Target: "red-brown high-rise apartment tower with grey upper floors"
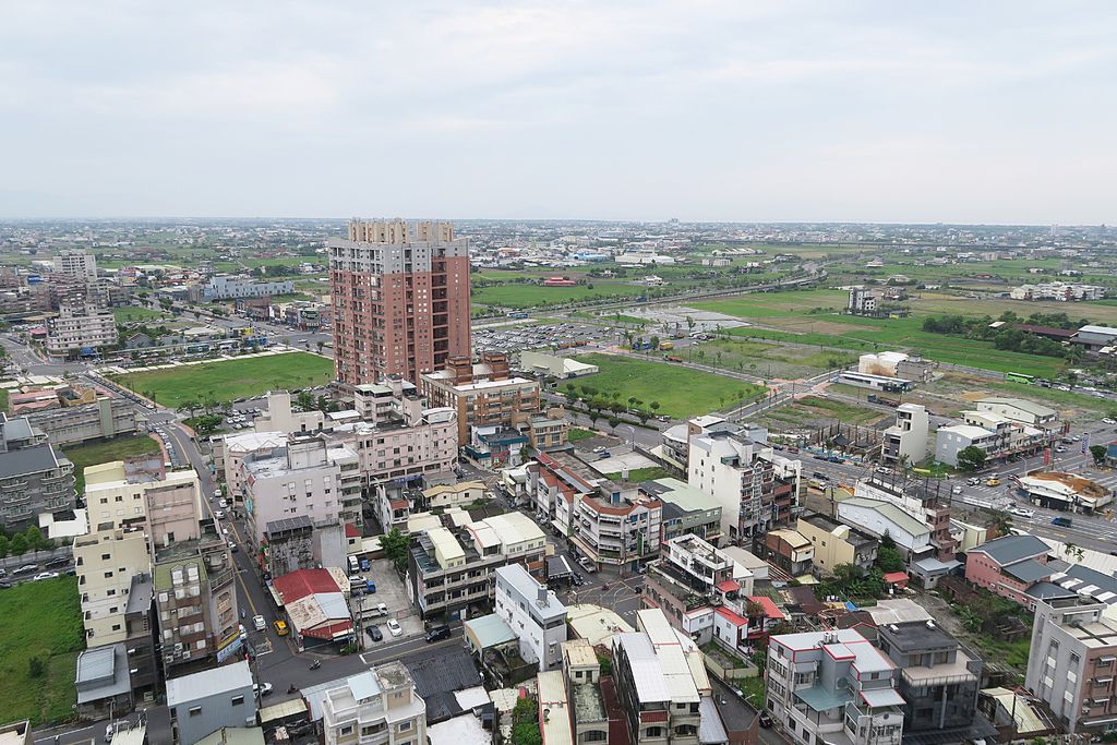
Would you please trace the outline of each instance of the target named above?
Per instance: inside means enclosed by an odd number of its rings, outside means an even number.
[[[469,247],[449,222],[352,220],[330,249],[334,364],[352,388],[468,355]]]

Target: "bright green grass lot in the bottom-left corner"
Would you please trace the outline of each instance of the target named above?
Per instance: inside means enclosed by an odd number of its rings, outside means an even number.
[[[85,647],[77,579],[25,582],[0,592],[0,701],[4,720],[74,716],[74,672]],[[31,658],[42,662],[32,675]]]

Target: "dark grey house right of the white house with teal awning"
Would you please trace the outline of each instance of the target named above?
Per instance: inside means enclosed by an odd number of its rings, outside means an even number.
[[[977,715],[982,660],[934,621],[887,623],[877,646],[899,670],[904,733],[926,733],[939,742],[976,742],[995,734]],[[956,739],[955,739],[956,738]]]

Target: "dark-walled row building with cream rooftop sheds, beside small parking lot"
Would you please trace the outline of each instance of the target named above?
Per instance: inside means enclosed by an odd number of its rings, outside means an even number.
[[[536,576],[544,570],[546,537],[522,513],[466,523],[457,534],[439,526],[414,535],[404,583],[423,618],[445,613],[455,619],[488,605],[499,566],[522,564]]]

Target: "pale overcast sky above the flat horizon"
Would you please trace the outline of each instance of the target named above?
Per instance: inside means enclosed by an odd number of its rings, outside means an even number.
[[[1117,3],[0,0],[0,218],[1117,222]]]

